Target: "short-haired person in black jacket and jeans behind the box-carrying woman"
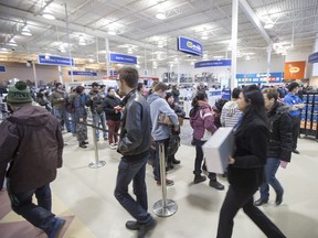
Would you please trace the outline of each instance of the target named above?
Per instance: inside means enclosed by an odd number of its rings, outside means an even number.
[[[284,190],[275,177],[279,167],[286,167],[290,162],[293,138],[292,138],[292,118],[288,113],[289,107],[277,101],[278,91],[275,88],[263,89],[265,108],[268,116],[269,141],[267,149],[267,160],[265,165],[266,181],[261,185],[261,198],[255,201],[256,206],[268,202],[269,186],[276,192],[275,204],[283,202]]]

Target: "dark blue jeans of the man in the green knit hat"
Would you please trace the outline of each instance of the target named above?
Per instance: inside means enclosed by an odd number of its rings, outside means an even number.
[[[7,186],[12,209],[33,226],[50,234],[56,219],[55,215],[51,213],[52,197],[50,184],[47,183],[42,187],[30,190],[24,193],[12,193],[10,180],[8,180]],[[32,203],[33,194],[35,194],[38,205]]]

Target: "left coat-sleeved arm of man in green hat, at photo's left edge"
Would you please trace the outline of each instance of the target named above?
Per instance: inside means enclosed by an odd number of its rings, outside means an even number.
[[[2,190],[8,163],[19,147],[19,133],[17,127],[8,120],[0,125],[0,190]]]

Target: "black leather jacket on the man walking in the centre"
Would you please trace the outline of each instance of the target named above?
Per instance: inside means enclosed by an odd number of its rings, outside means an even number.
[[[150,149],[150,108],[137,89],[131,90],[121,105],[125,109],[117,151],[130,160],[137,160],[140,156],[134,155],[148,153]]]

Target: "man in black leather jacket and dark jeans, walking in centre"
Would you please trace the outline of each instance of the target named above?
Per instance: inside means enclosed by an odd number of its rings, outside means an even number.
[[[138,230],[138,237],[145,237],[156,226],[148,210],[146,188],[146,163],[150,149],[150,108],[145,98],[137,93],[139,75],[134,67],[123,67],[118,72],[120,95],[126,95],[121,106],[124,117],[117,151],[123,154],[118,166],[115,197],[136,219],[128,220],[126,227]],[[128,193],[132,181],[135,201]]]

